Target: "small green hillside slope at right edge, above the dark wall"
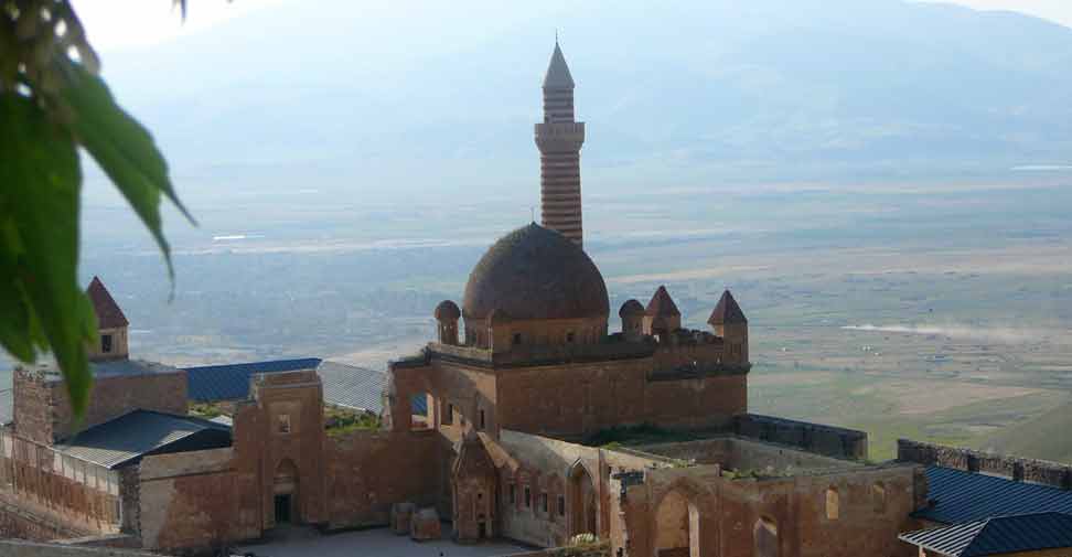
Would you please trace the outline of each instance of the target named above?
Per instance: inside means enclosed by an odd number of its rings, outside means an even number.
[[[1001,429],[976,443],[983,450],[1072,463],[1072,403]]]

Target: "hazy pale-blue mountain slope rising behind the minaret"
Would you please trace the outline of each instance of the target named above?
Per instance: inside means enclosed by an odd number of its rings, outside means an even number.
[[[588,194],[1072,159],[1072,30],[899,0],[290,2],[105,71],[186,191],[534,200],[556,28]]]

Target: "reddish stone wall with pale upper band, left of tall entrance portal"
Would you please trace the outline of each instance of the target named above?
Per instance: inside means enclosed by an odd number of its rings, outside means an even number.
[[[143,547],[211,548],[260,536],[256,478],[236,468],[233,449],[146,457],[138,469]]]

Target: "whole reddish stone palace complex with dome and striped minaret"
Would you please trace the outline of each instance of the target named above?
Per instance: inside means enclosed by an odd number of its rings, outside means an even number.
[[[683,328],[662,286],[612,322],[582,248],[573,86],[556,44],[536,127],[544,225],[495,242],[461,304],[430,312],[435,339],[388,365],[382,406],[340,395],[382,408],[382,428],[325,431],[319,360],[131,360],[128,322],[94,279],[90,407],[76,422],[54,366],[17,369],[0,531],[193,551],[285,523],[426,539],[443,519],[459,543],[591,534],[618,557],[915,554],[898,536],[944,525],[926,514],[942,474],[920,456],[934,451],[869,463],[864,432],[750,414],[749,323],[728,290],[706,330]],[[227,419],[191,417],[190,403]],[[944,501],[943,516],[979,517]]]

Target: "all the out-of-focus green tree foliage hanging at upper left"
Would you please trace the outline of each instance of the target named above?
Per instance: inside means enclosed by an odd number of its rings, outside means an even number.
[[[68,0],[0,0],[0,345],[25,363],[51,352],[79,416],[97,320],[77,277],[78,148],[152,234],[172,283],[161,196],[194,222],[152,136],[116,104],[98,68]]]

